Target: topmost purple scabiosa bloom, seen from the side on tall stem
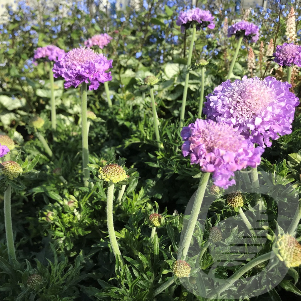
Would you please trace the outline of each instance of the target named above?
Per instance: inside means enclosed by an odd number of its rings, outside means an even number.
[[[187,11],[180,11],[176,24],[181,26],[181,31],[184,33],[185,29],[189,28],[193,23],[197,25],[197,30],[205,29],[206,27],[213,29],[215,24],[214,17],[210,11],[204,11],[200,8],[188,9]]]

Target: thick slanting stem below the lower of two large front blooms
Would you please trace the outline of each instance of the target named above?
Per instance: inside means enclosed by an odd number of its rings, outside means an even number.
[[[200,213],[209,176],[210,176],[210,172],[205,172],[202,174],[200,178],[200,184],[199,187],[197,188],[197,194],[195,195],[194,203],[191,209],[188,226],[185,231],[184,239],[182,241],[181,247],[178,250],[178,259],[181,259],[182,257],[183,260],[185,260],[186,255],[188,253],[189,245],[191,242],[195,224],[197,223],[197,218]]]

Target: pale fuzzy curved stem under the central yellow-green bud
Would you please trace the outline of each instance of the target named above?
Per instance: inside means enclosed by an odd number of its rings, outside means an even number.
[[[114,253],[114,256],[118,256],[120,266],[121,268],[124,265],[117,239],[115,236],[115,230],[114,230],[114,223],[113,223],[113,193],[114,193],[114,184],[112,182],[108,183],[108,190],[107,190],[107,226],[108,226],[108,232],[109,232],[109,238],[111,247]]]

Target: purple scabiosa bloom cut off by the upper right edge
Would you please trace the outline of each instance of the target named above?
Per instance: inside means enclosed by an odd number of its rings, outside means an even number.
[[[280,66],[293,66],[301,67],[301,46],[294,43],[283,43],[276,47],[276,52],[273,53],[274,62]]]

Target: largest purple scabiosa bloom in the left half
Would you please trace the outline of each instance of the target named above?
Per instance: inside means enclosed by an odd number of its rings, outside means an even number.
[[[54,63],[54,77],[62,76],[65,79],[65,88],[77,87],[82,82],[89,83],[89,90],[96,90],[99,83],[112,79],[113,60],[108,60],[103,54],[98,54],[89,48],[74,48],[65,55],[60,55]]]

